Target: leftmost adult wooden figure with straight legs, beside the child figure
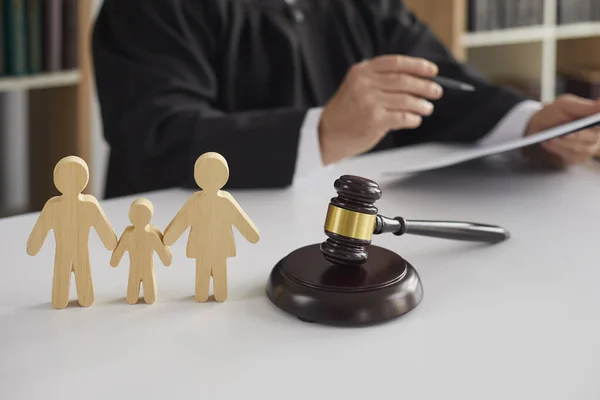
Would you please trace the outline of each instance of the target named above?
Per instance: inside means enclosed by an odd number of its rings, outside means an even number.
[[[75,275],[79,304],[88,307],[94,302],[88,249],[90,228],[94,227],[108,250],[117,245],[117,235],[96,198],[81,193],[88,181],[85,161],[75,156],[61,159],[54,168],[54,185],[61,195],[46,202],[27,241],[27,254],[34,256],[40,251],[48,232],[54,230],[52,305],[57,309],[68,304],[71,273]]]

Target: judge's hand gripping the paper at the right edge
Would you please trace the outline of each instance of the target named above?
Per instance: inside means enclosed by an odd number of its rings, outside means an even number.
[[[588,100],[573,95],[558,97],[538,111],[527,127],[531,135],[600,112],[600,100]],[[523,150],[532,162],[565,168],[592,158],[600,149],[600,127],[581,130]]]

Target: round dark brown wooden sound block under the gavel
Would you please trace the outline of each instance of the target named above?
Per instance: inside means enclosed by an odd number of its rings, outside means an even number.
[[[319,244],[293,251],[275,265],[267,296],[302,321],[371,325],[399,317],[423,298],[417,271],[398,254],[369,246],[362,266],[325,260]]]

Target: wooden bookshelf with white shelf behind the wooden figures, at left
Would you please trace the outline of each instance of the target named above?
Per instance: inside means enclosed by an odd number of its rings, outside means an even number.
[[[76,70],[0,77],[0,92],[26,91],[28,99],[29,200],[19,207],[19,213],[39,211],[49,197],[57,194],[53,170],[60,158],[77,155],[88,165],[92,162],[92,2],[79,1],[77,9]],[[0,204],[3,216],[11,212],[3,210]]]

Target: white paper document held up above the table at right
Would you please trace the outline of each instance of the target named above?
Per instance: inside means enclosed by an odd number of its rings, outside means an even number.
[[[600,113],[560,125],[531,136],[491,145],[425,143],[395,153],[396,165],[386,175],[409,174],[451,165],[531,146],[546,140],[600,125]]]

